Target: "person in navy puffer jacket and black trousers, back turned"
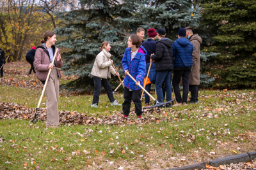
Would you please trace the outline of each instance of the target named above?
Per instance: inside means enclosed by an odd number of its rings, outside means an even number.
[[[173,42],[173,90],[175,94],[175,99],[177,101],[173,106],[180,106],[182,103],[186,105],[188,100],[188,90],[189,90],[189,74],[191,67],[193,65],[192,52],[193,45],[186,38],[186,29],[181,28],[178,32],[178,39]],[[180,96],[180,78],[182,77],[183,83],[183,95],[182,99]]]

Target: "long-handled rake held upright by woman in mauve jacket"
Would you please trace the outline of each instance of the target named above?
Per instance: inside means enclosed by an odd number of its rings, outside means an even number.
[[[51,63],[51,64],[54,64],[54,60],[55,60],[55,58],[56,58],[57,52],[58,52],[58,48],[56,48],[56,50],[55,50],[54,57],[53,57],[53,60],[52,60],[52,63]],[[42,115],[42,109],[39,108],[39,107],[40,107],[42,98],[43,98],[43,96],[44,96],[44,91],[45,91],[47,82],[48,82],[48,80],[49,80],[49,76],[50,76],[51,70],[52,70],[52,69],[49,69],[47,78],[46,78],[46,80],[45,80],[44,89],[43,89],[43,91],[42,91],[41,97],[40,97],[39,102],[38,102],[37,107],[36,107],[36,111],[35,111],[34,118],[31,120],[31,122],[32,122],[33,124],[36,124],[36,123],[38,122],[38,120],[40,120],[40,116]]]

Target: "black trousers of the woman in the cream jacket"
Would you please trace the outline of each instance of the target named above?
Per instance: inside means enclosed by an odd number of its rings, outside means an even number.
[[[93,99],[92,99],[92,104],[99,104],[99,98],[100,98],[100,93],[101,93],[101,84],[103,85],[104,89],[106,90],[108,94],[108,99],[112,103],[115,101],[114,96],[113,96],[113,91],[111,88],[111,85],[109,84],[108,79],[105,78],[99,78],[97,76],[93,76],[94,79],[94,87],[95,91],[93,94]]]

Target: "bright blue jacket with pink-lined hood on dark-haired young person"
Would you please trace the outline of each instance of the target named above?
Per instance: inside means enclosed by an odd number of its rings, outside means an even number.
[[[144,77],[146,75],[146,60],[145,55],[147,51],[143,46],[140,46],[138,53],[135,55],[134,59],[131,60],[131,48],[126,48],[122,64],[123,70],[129,70],[131,76],[136,80],[140,81],[140,85],[143,86]],[[137,86],[135,82],[125,74],[124,86],[131,90],[140,90],[140,86]]]

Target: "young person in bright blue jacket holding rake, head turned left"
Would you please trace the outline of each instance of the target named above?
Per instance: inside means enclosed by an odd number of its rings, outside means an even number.
[[[147,55],[147,51],[143,46],[141,46],[141,39],[136,34],[131,34],[127,43],[128,48],[126,48],[122,59],[123,70],[126,74],[124,78],[124,118],[128,119],[131,109],[131,101],[133,101],[135,104],[135,113],[138,120],[140,120],[142,115],[142,106],[140,100],[141,88],[138,84],[143,86],[146,74],[145,55]],[[134,82],[127,73],[131,74],[136,82]]]

